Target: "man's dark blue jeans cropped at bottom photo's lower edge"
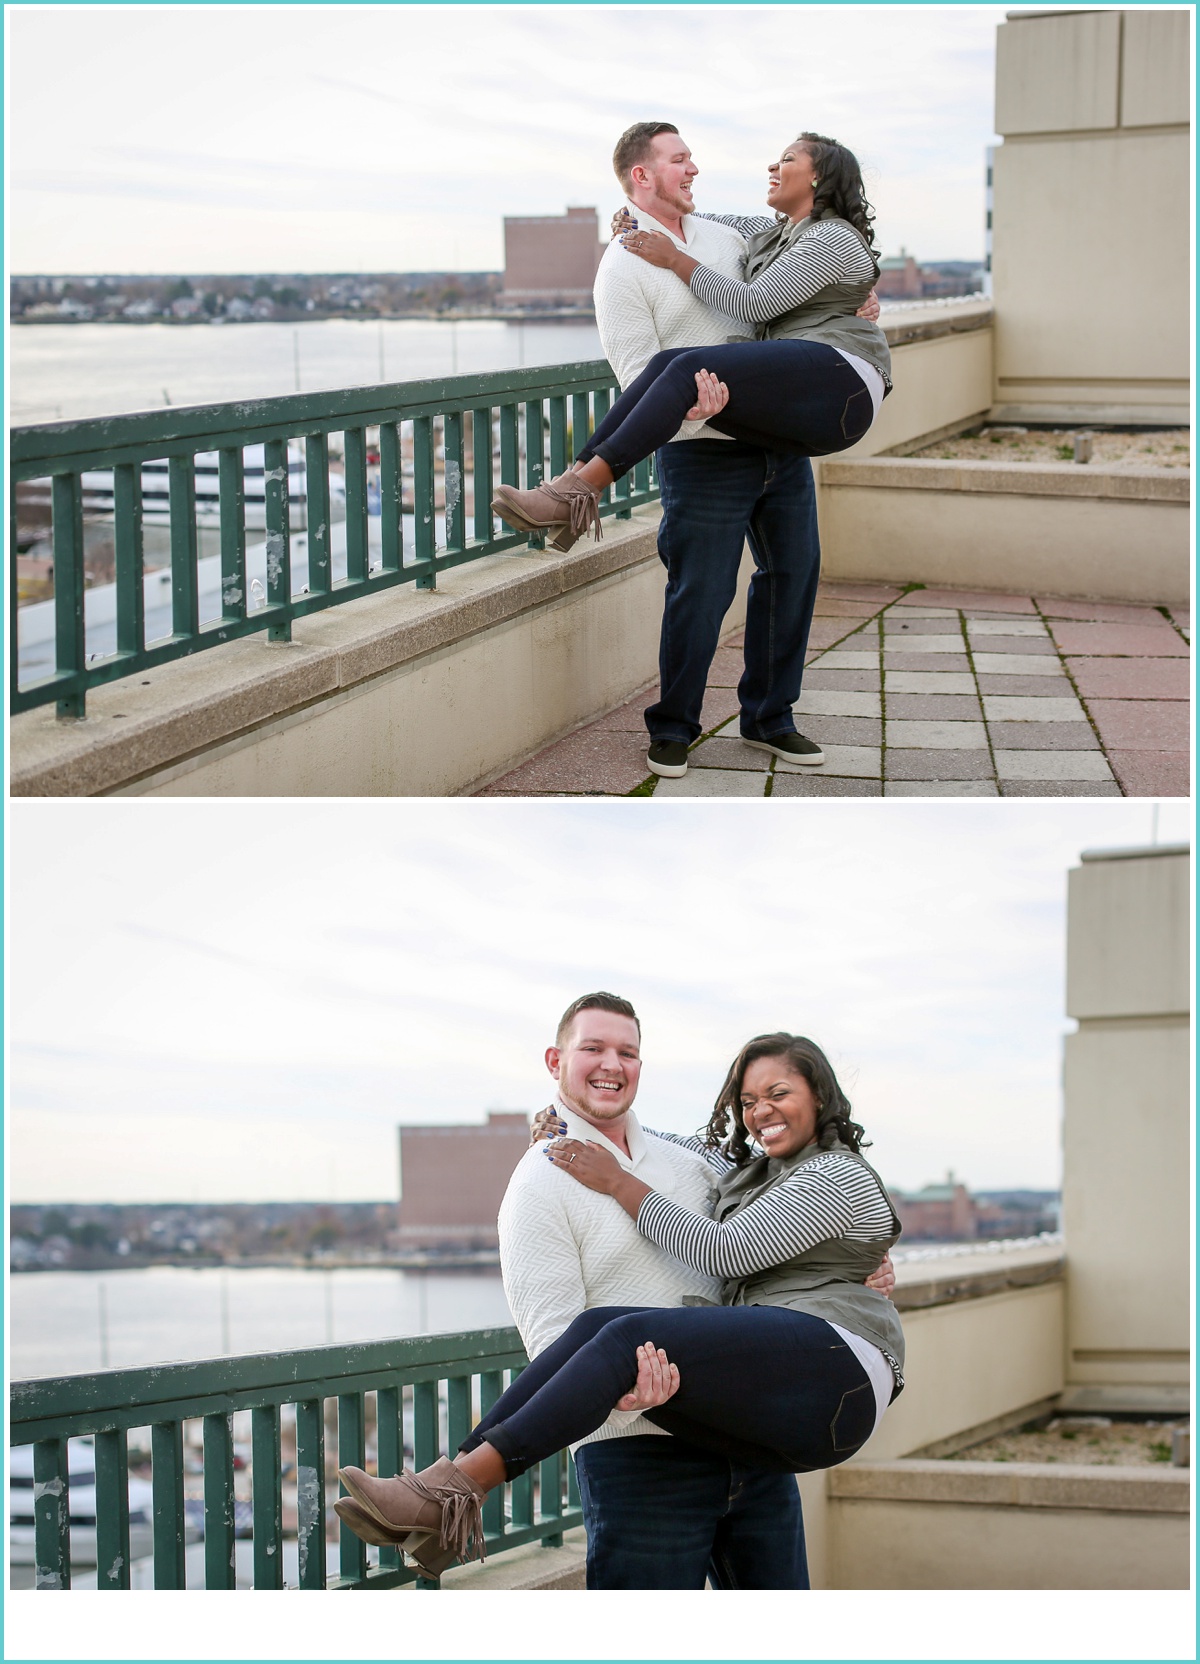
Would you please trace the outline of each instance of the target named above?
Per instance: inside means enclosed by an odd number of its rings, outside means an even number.
[[[807,1589],[796,1479],[682,1439],[632,1436],[576,1453],[589,1589]]]

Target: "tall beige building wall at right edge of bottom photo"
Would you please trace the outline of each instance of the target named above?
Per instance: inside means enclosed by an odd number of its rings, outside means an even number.
[[[1083,855],[1070,874],[1065,1401],[1187,1408],[1190,854]]]

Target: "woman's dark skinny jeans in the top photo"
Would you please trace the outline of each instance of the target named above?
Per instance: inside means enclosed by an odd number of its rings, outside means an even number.
[[[857,369],[819,341],[732,341],[656,353],[631,381],[579,459],[599,456],[619,479],[679,431],[696,403],[696,371],[711,369],[729,403],[709,428],[802,456],[844,451],[872,423],[874,406]]]

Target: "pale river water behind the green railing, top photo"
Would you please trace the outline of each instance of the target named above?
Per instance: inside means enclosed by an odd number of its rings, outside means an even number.
[[[602,358],[591,321],[424,318],[10,329],[15,424]]]

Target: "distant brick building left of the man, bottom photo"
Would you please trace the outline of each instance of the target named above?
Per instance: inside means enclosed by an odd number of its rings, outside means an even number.
[[[481,1127],[399,1128],[398,1248],[496,1248],[496,1215],[529,1122],[491,1112]]]

